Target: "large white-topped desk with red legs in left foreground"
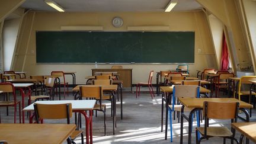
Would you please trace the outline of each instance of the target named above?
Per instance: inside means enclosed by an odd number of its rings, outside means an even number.
[[[87,143],[92,144],[92,110],[96,103],[96,100],[61,100],[61,101],[36,101],[37,104],[72,104],[72,111],[76,113],[81,113],[85,117],[85,133]],[[89,110],[89,116],[87,114]],[[34,111],[34,103],[28,105],[23,109],[23,111]],[[34,114],[30,116],[30,123],[33,123]],[[90,140],[89,140],[90,139]]]

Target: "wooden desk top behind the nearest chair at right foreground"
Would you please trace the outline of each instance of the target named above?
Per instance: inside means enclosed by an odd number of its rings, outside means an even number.
[[[203,108],[204,101],[214,102],[239,102],[241,108],[252,108],[251,104],[239,101],[236,98],[178,98],[178,100],[188,108]]]

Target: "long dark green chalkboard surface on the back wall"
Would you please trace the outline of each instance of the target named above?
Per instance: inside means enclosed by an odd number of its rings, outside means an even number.
[[[194,63],[194,32],[37,31],[37,63]]]

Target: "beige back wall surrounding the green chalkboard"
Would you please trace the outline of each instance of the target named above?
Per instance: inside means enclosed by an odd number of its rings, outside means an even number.
[[[114,28],[111,25],[111,20],[116,16],[123,18],[124,24],[120,28]],[[94,68],[94,65],[36,64],[36,31],[60,31],[60,26],[63,25],[102,25],[104,31],[127,31],[128,26],[168,25],[168,31],[195,31],[195,63],[189,65],[190,73],[195,76],[197,69],[217,67],[210,30],[202,11],[169,13],[29,12],[25,15],[21,26],[17,46],[18,55],[15,56],[14,62],[15,71],[27,71],[28,75],[49,75],[54,70],[76,71],[76,83],[84,84],[85,76],[91,75],[91,68]],[[200,53],[199,49],[201,50]],[[111,65],[98,65],[98,68],[110,67]],[[141,81],[146,82],[151,70],[158,72],[176,67],[177,65],[123,65],[123,68],[133,69],[133,84]],[[155,76],[153,78],[153,83],[155,83]],[[68,78],[68,81],[71,81],[71,78]]]

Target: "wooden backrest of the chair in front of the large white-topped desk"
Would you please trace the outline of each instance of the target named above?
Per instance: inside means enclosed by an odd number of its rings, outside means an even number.
[[[72,117],[72,104],[34,103],[36,117],[39,119],[69,119]]]

